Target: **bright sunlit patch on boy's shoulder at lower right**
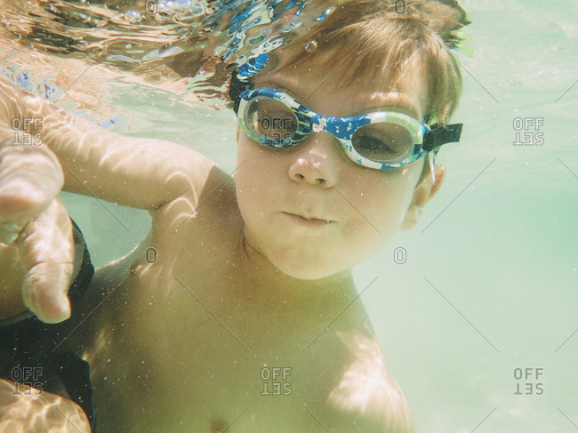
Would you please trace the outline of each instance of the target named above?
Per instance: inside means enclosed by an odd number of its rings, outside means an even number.
[[[372,334],[369,329],[367,332]],[[387,431],[406,431],[405,426],[413,426],[403,393],[385,365],[375,336],[367,338],[358,331],[337,335],[355,361],[331,391],[329,402],[343,411],[377,418]]]

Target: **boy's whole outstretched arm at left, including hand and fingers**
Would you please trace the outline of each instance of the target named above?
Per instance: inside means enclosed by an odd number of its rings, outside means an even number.
[[[213,167],[189,148],[108,132],[0,77],[0,268],[12,269],[0,278],[0,318],[24,309],[22,298],[45,322],[70,315],[74,244],[58,200],[63,184],[143,209],[189,193],[195,206]]]

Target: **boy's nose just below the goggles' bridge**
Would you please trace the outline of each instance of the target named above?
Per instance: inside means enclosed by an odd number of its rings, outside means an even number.
[[[306,182],[333,188],[337,182],[338,164],[342,164],[339,143],[327,132],[314,132],[298,144],[299,151],[293,154],[289,177],[296,182]]]

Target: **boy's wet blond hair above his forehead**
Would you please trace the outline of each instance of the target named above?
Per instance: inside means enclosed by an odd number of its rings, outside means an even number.
[[[312,4],[315,4],[315,0]],[[461,41],[457,30],[470,23],[454,0],[358,0],[333,4],[325,20],[295,37],[293,66],[308,65],[339,74],[351,84],[359,76],[389,83],[395,89],[403,74],[427,80],[424,119],[445,124],[458,105],[462,75],[451,48]],[[418,60],[420,71],[409,70]],[[284,61],[285,63],[285,61]]]

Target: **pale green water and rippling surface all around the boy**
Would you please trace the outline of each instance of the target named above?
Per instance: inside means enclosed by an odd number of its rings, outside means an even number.
[[[578,3],[460,4],[472,21],[454,52],[462,140],[439,152],[446,180],[420,223],[355,269],[357,301],[419,432],[574,431]],[[196,148],[228,172],[229,65],[330,13],[184,0],[5,2],[0,12],[0,73],[113,131]],[[149,230],[147,212],[63,197],[95,265]]]

